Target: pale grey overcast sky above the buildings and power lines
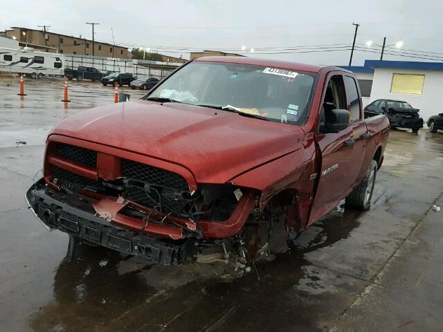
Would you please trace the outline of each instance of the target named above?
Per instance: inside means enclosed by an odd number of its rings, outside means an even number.
[[[325,52],[332,44],[347,48],[352,44],[354,26],[360,24],[356,43],[372,40],[382,44],[402,41],[402,50],[435,52],[443,61],[443,1],[3,1],[0,29],[10,26],[37,28],[49,24],[55,33],[91,38],[91,26],[98,22],[96,39],[116,44],[149,46],[159,53],[188,58],[188,50],[254,48],[254,57],[287,59],[311,64],[348,64],[350,51]],[[292,50],[260,50],[293,46],[328,45],[316,53],[284,53]],[[163,51],[166,47],[170,52]],[[321,46],[323,47],[323,46]],[[356,50],[353,65],[364,59],[378,59],[377,46]],[[429,53],[428,55],[431,55]],[[431,61],[386,55],[383,59]]]

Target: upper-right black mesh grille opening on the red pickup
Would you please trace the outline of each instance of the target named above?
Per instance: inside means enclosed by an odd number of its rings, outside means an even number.
[[[123,160],[123,176],[126,178],[134,178],[138,181],[149,183],[150,185],[158,185],[160,187],[181,191],[189,190],[188,183],[183,176],[131,160]]]

